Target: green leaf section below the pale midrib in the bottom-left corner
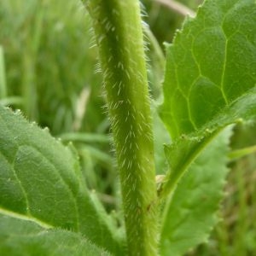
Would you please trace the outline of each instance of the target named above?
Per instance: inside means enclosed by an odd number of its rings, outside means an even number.
[[[30,219],[10,217],[5,213],[0,212],[1,255],[110,255],[78,233],[47,229]]]

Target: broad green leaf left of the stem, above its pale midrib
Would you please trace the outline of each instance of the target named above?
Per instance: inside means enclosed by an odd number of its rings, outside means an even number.
[[[111,253],[122,250],[83,183],[75,150],[1,106],[0,209],[79,232]]]

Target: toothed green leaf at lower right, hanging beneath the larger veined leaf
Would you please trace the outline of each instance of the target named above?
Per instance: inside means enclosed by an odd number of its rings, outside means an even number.
[[[166,203],[160,236],[161,255],[178,256],[202,241],[217,223],[227,174],[230,127],[189,167]]]

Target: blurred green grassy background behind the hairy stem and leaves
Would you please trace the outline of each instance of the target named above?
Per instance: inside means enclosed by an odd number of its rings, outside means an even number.
[[[155,160],[166,171],[163,143],[170,142],[156,106],[161,100],[164,42],[172,42],[182,26],[183,7],[201,3],[183,0],[173,9],[160,0],[144,0],[148,79],[154,112]],[[168,2],[168,1],[166,1]],[[172,2],[172,1],[170,1]],[[72,141],[80,155],[84,181],[108,212],[120,207],[119,181],[102,91],[102,74],[90,30],[90,18],[79,0],[0,1],[0,103],[20,108],[41,127],[49,127],[64,143]],[[232,148],[256,144],[256,127],[236,127]],[[256,154],[230,162],[222,221],[207,244],[187,255],[256,255]]]

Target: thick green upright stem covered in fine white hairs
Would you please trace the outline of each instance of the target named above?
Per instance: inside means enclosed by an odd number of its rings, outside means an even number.
[[[129,255],[157,254],[154,146],[137,0],[84,0],[99,47]]]

